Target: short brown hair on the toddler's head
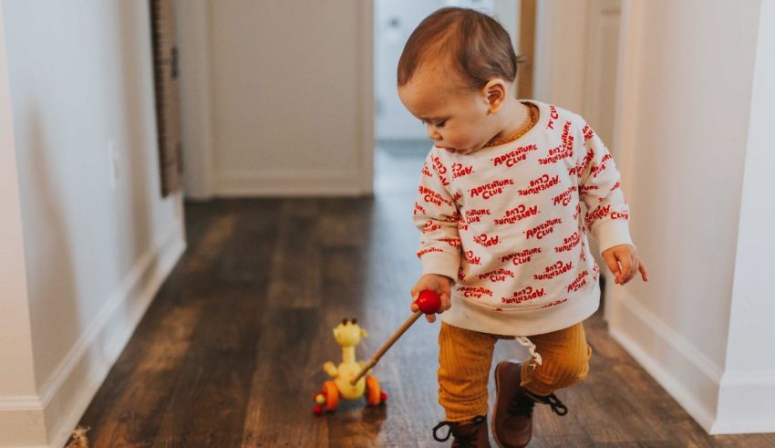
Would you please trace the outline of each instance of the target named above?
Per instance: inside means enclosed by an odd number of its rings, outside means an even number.
[[[430,60],[449,63],[465,87],[480,89],[492,78],[513,81],[519,59],[497,20],[473,9],[446,7],[423,19],[409,36],[398,60],[398,87]]]

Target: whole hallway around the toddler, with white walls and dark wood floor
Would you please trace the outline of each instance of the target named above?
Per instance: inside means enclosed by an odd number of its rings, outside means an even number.
[[[331,329],[367,359],[419,273],[421,156],[373,151],[377,36],[414,26],[380,3],[420,2],[0,0],[0,447],[440,446],[439,324],[377,366],[386,407],[312,412]],[[519,96],[603,136],[650,277],[532,446],[775,448],[775,1],[455,3],[519,4]]]

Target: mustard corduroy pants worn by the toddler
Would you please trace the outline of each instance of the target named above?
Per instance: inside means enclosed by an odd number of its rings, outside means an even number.
[[[487,414],[487,382],[492,350],[498,339],[511,336],[452,327],[439,330],[439,404],[449,422],[468,422]],[[522,363],[522,386],[536,395],[549,395],[586,378],[592,349],[581,322],[552,333],[532,335],[541,365]]]

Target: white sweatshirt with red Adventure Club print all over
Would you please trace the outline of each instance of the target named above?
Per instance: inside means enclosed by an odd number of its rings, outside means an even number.
[[[456,279],[449,325],[512,336],[570,327],[599,304],[587,229],[601,251],[632,245],[603,141],[578,115],[531,102],[538,121],[517,141],[468,155],[434,147],[423,166],[418,256],[423,274]]]

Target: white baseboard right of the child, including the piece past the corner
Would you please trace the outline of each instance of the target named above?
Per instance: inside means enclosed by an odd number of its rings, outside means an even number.
[[[775,371],[729,373],[621,290],[611,335],[710,434],[775,432]]]

